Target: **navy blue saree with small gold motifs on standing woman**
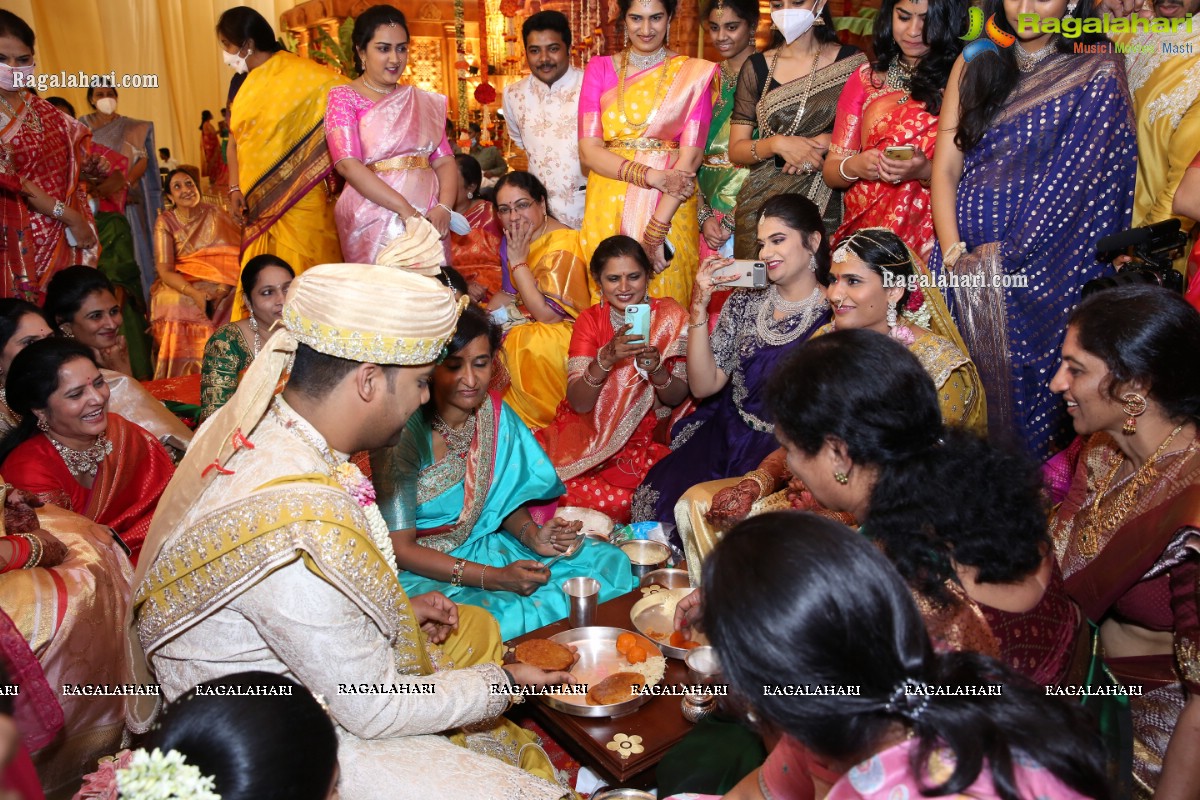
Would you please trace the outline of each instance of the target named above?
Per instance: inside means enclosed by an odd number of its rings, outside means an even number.
[[[1070,435],[1048,375],[1080,289],[1112,270],[1096,240],[1129,227],[1135,151],[1122,66],[1055,54],[1021,74],[964,154],[956,213],[970,251],[954,272],[970,281],[947,301],[988,392],[989,432],[1043,459]],[[937,247],[930,269],[943,271]]]

